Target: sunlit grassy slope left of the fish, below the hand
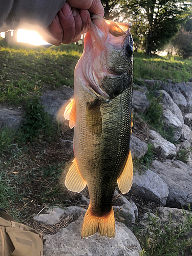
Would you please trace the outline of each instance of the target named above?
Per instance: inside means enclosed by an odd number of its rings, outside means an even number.
[[[82,47],[11,48],[1,45],[0,41],[0,102],[19,104],[46,89],[73,87],[74,68]]]

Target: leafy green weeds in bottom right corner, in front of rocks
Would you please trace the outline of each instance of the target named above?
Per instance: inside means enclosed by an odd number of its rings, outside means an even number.
[[[148,215],[148,225],[141,232],[136,231],[136,236],[141,242],[143,250],[140,255],[142,256],[176,256],[184,255],[184,249],[190,247],[192,249],[192,238],[186,239],[187,234],[192,230],[192,212],[183,210],[185,217],[184,224],[178,224],[176,227],[173,225],[171,214],[169,215],[168,224],[164,225],[162,230],[159,218],[156,216]],[[144,234],[142,236],[141,234]]]

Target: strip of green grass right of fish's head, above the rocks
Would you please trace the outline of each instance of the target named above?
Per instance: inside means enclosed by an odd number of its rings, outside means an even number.
[[[187,82],[192,77],[192,59],[178,56],[148,57],[143,53],[134,53],[134,79],[155,79],[166,82]]]

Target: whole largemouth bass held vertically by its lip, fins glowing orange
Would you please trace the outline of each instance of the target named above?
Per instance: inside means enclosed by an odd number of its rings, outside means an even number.
[[[116,185],[127,193],[133,180],[133,39],[131,24],[92,15],[84,50],[74,71],[74,98],[64,113],[74,127],[74,160],[65,185],[79,193],[86,185],[90,204],[81,238],[115,237],[112,198]]]

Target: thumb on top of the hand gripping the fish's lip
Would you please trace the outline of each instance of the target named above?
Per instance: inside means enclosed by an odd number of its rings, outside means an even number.
[[[101,17],[104,15],[104,9],[100,0],[66,0],[71,7],[79,10],[88,10],[90,13],[98,14]]]

